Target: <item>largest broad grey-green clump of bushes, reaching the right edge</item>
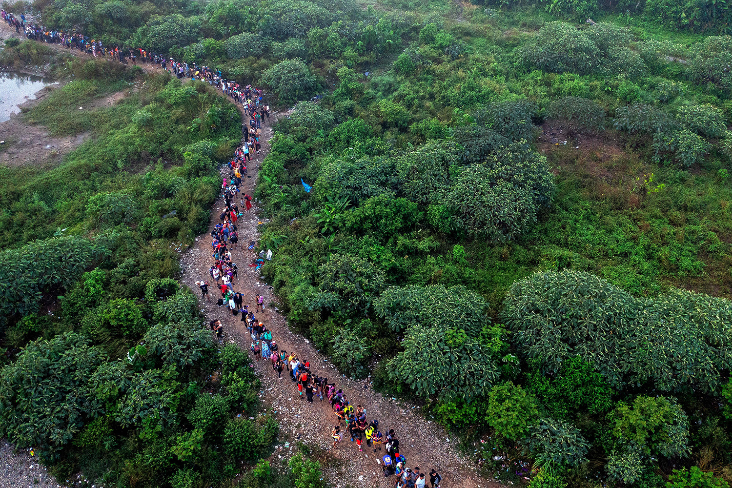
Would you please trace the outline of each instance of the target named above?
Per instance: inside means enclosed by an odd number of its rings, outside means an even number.
[[[660,391],[712,393],[727,360],[707,340],[728,340],[720,327],[730,313],[728,301],[684,290],[636,299],[591,274],[548,271],[513,285],[502,319],[526,357],[545,361],[545,371],[580,356],[614,388],[649,382]]]

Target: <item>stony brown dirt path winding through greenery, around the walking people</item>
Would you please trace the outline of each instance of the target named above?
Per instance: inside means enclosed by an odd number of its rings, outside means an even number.
[[[0,35],[4,38],[15,35],[5,23],[1,23]],[[59,45],[48,45],[50,48],[64,50]],[[79,52],[78,50],[64,50],[75,56],[91,59],[91,55]],[[138,64],[146,72],[157,72],[159,69],[148,64]],[[237,110],[242,114],[242,121],[247,121],[241,105],[234,103]],[[264,119],[261,128],[262,147],[260,154],[254,155],[252,161],[247,165],[249,172],[242,178],[241,193],[254,194],[258,170],[261,162],[269,154],[269,141],[272,138],[272,124],[278,117],[287,116],[287,113],[273,113],[272,118]],[[222,169],[222,174],[228,174],[228,168]],[[237,198],[238,200],[238,198]],[[237,201],[237,203],[239,203]],[[217,216],[220,209],[224,207],[223,198],[219,198],[212,208],[209,230],[195,240],[195,244],[182,253],[181,267],[183,276],[181,281],[190,287],[196,296],[201,296],[196,280],[206,279],[210,281],[208,274],[211,258],[211,238],[209,233],[218,222]],[[242,206],[243,208],[244,206]],[[280,350],[296,352],[301,359],[309,359],[310,369],[316,375],[326,376],[329,381],[336,383],[337,388],[346,391],[352,405],[363,405],[367,410],[367,418],[376,418],[379,427],[386,433],[389,429],[395,429],[396,437],[400,440],[400,454],[406,457],[406,466],[415,468],[419,466],[422,473],[429,473],[430,469],[436,468],[442,476],[441,487],[453,488],[501,488],[503,485],[496,481],[486,480],[476,473],[477,466],[474,462],[462,459],[457,451],[457,439],[453,438],[444,428],[434,421],[427,420],[417,412],[414,405],[407,405],[395,399],[384,398],[381,394],[373,391],[368,380],[351,380],[345,378],[328,361],[326,356],[315,350],[308,339],[299,334],[294,334],[288,329],[286,319],[276,310],[277,297],[263,279],[259,271],[250,268],[248,265],[255,259],[255,251],[247,249],[247,243],[258,241],[259,228],[262,222],[258,218],[258,202],[253,202],[253,208],[245,211],[244,216],[237,222],[239,228],[239,245],[231,249],[234,262],[239,264],[239,278],[236,280],[236,290],[241,291],[244,296],[244,304],[249,304],[250,309],[255,308],[255,296],[264,295],[266,310],[257,313],[258,320],[264,322],[277,341]],[[273,249],[276,252],[276,249]],[[201,301],[201,310],[207,320],[219,319],[222,321],[225,330],[225,340],[234,342],[240,348],[249,352],[250,335],[244,322],[239,316],[232,316],[225,307],[217,307],[215,299],[218,296],[215,288],[212,288],[212,302]],[[272,304],[272,305],[270,305]],[[395,486],[394,476],[385,478],[381,473],[381,465],[377,459],[381,459],[385,451],[373,453],[373,448],[364,446],[364,451],[359,451],[356,443],[349,442],[348,435],[335,447],[332,447],[330,436],[332,427],[337,424],[337,418],[330,408],[329,402],[320,401],[315,397],[312,404],[299,399],[296,384],[286,374],[279,380],[277,374],[272,370],[270,361],[253,361],[254,367],[261,378],[262,386],[260,391],[261,401],[275,412],[275,417],[280,424],[279,444],[272,454],[273,464],[278,460],[286,460],[294,453],[298,443],[305,443],[313,449],[313,455],[321,459],[326,479],[336,488],[346,487],[380,487],[393,488]],[[343,432],[343,431],[342,431]],[[8,446],[0,449],[4,453],[2,461],[8,463],[8,477],[0,475],[0,486],[15,487],[59,487],[53,483],[53,478],[45,475],[38,476],[39,470],[45,473],[45,468],[37,465],[34,459],[27,454],[18,453],[10,455]],[[30,466],[30,468],[29,468]],[[11,474],[12,473],[12,474]],[[39,479],[40,478],[40,479]],[[33,480],[33,481],[31,481]],[[427,480],[429,481],[429,480]],[[40,483],[39,483],[40,482]],[[7,483],[7,484],[6,484]],[[73,482],[72,482],[73,484]]]

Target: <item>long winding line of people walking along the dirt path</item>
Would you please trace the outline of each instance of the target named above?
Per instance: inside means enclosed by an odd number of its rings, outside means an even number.
[[[223,178],[221,186],[225,206],[219,215],[220,222],[214,226],[211,233],[213,265],[209,269],[209,277],[212,282],[209,283],[206,279],[195,282],[201,289],[202,298],[211,301],[209,288],[215,282],[220,292],[217,305],[226,307],[234,317],[238,315],[240,321],[245,323],[251,337],[250,351],[255,358],[258,361],[270,361],[272,371],[277,374],[280,381],[289,378],[296,386],[302,401],[313,403],[317,398],[319,402],[327,402],[330,405],[337,421],[331,431],[333,448],[339,446],[343,439],[349,439],[359,451],[363,451],[364,448],[373,449],[374,453],[378,451],[377,462],[381,465],[384,476],[392,476],[395,479],[396,488],[425,488],[427,479],[430,481],[430,487],[439,487],[441,476],[435,469],[430,473],[423,473],[418,466],[414,469],[407,467],[406,458],[399,452],[399,439],[394,429],[389,429],[384,435],[380,430],[378,419],[369,420],[365,407],[352,405],[346,392],[337,388],[335,382],[330,382],[325,376],[312,372],[310,361],[301,359],[294,351],[280,349],[272,331],[256,317],[256,314],[264,312],[266,307],[264,296],[256,296],[252,310],[249,304],[244,304],[244,295],[234,289],[239,279],[237,274],[239,266],[231,254],[231,249],[236,249],[239,244],[236,222],[244,211],[252,209],[252,198],[246,193],[241,195],[239,187],[242,185],[242,176],[247,174],[247,163],[252,160],[252,154],[258,155],[261,151],[261,125],[264,123],[263,118],[269,120],[270,116],[269,105],[264,103],[264,91],[252,86],[240,86],[234,80],[223,78],[220,71],[211,67],[178,62],[143,48],[104,45],[101,40],[90,39],[83,34],[46,29],[29,22],[25,15],[16,18],[5,10],[1,11],[1,16],[10,26],[15,27],[16,32],[20,34],[20,31],[23,31],[28,39],[63,45],[67,49],[78,49],[95,57],[107,57],[122,63],[157,64],[161,70],[171,72],[177,78],[208,82],[243,106],[242,111],[244,115],[249,116],[249,123],[242,124],[244,126],[242,146],[235,151],[234,157],[228,162],[228,175]],[[241,207],[236,204],[236,198],[240,198]],[[255,242],[250,241],[248,249],[254,247]],[[271,259],[272,252],[262,251],[249,266],[259,269],[265,258]],[[221,339],[224,332],[221,320],[211,320],[209,325],[214,334]],[[284,378],[283,372],[286,372]]]

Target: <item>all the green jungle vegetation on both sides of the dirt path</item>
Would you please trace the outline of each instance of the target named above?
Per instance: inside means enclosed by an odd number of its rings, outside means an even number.
[[[419,402],[487,473],[732,483],[732,6],[26,8],[296,103],[258,181],[266,279],[345,374]],[[227,484],[276,427],[234,418],[257,410],[256,379],[203,334],[174,249],[206,226],[239,118],[206,86],[99,66],[72,64],[75,88],[27,114],[94,139],[53,168],[0,170],[0,432],[61,476]],[[132,82],[122,104],[63,110]],[[242,482],[318,486],[315,462],[293,459]]]

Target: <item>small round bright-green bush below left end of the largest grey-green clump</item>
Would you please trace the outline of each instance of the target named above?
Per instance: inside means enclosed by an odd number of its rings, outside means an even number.
[[[510,381],[493,386],[488,392],[486,421],[505,438],[523,439],[538,413],[536,399]]]

